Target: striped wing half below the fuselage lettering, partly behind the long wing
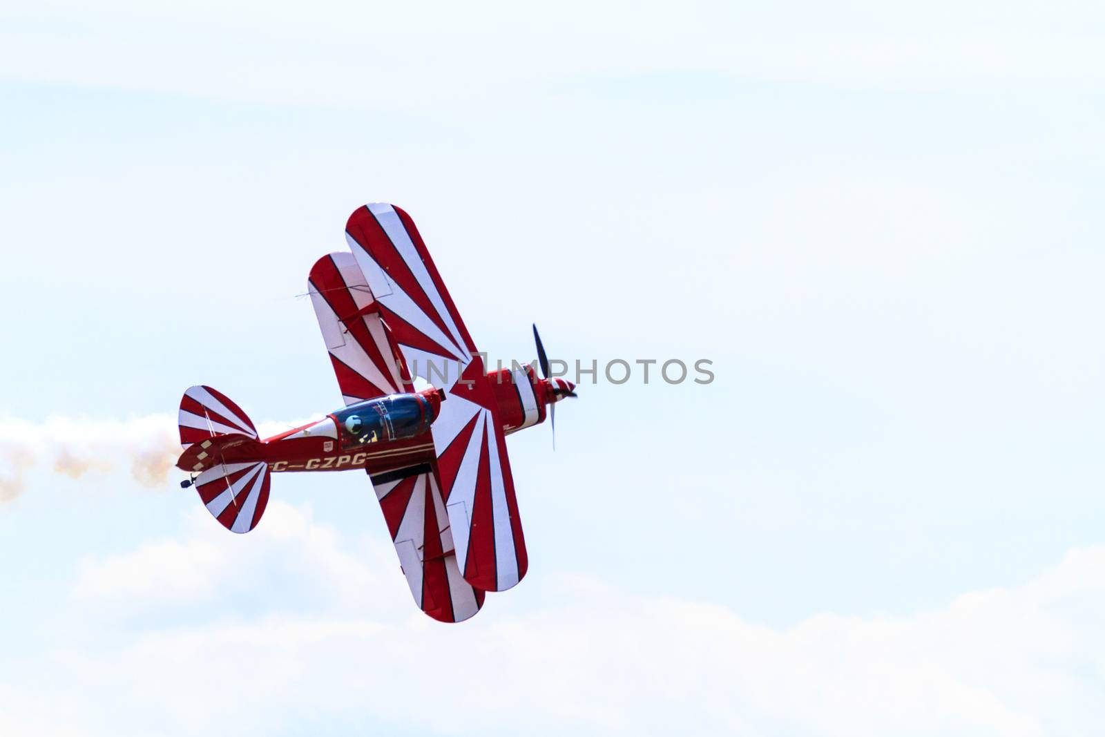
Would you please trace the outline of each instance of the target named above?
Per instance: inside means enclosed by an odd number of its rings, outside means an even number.
[[[378,474],[372,486],[419,608],[441,622],[461,622],[480,611],[484,592],[472,588],[457,568],[433,468]]]

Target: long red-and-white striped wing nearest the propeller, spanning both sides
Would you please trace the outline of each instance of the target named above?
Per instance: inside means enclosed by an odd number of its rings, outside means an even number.
[[[460,570],[477,589],[508,589],[528,561],[483,360],[406,212],[381,203],[360,208],[346,235],[410,372],[446,392],[431,433]]]

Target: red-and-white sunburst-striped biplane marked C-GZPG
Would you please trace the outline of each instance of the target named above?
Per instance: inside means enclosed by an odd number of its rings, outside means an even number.
[[[536,326],[539,378],[532,365],[487,370],[403,210],[359,208],[346,240],[349,251],[319,259],[307,281],[345,407],[261,439],[224,394],[191,387],[180,401],[177,466],[191,475],[181,485],[223,527],[248,533],[272,474],[366,471],[415,603],[460,622],[526,575],[506,435],[544,422],[575,385],[549,376]]]

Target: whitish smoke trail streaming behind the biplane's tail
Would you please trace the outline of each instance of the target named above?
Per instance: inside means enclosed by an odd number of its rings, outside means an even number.
[[[263,422],[257,430],[267,438],[292,427]],[[175,414],[127,420],[50,417],[42,422],[0,418],[0,503],[19,496],[28,472],[36,467],[71,478],[123,467],[141,486],[162,486],[180,450]]]

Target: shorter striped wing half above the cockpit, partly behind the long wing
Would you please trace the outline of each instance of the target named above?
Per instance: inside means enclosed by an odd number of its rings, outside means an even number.
[[[332,253],[315,262],[307,291],[347,406],[412,390],[352,255]]]

